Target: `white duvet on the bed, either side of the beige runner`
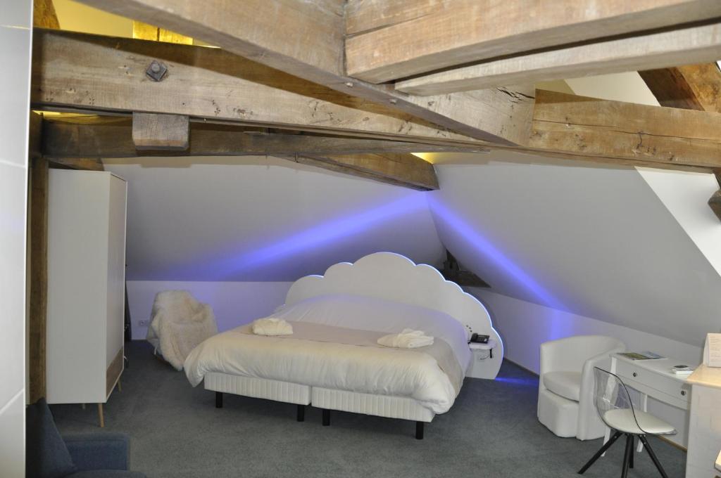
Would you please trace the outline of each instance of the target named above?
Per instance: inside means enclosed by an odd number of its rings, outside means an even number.
[[[466,330],[453,317],[423,307],[368,297],[325,296],[283,307],[272,317],[379,333],[423,330],[446,341],[461,370],[469,364]],[[247,328],[247,326],[246,326]],[[435,413],[457,390],[438,362],[422,351],[252,335],[236,328],[215,335],[185,361],[195,387],[209,372],[273,379],[311,387],[412,397]]]

